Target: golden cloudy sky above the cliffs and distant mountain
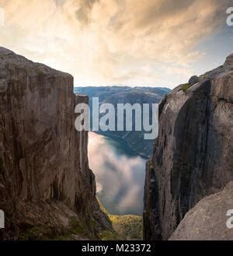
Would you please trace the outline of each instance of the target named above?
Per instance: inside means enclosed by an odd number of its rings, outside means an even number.
[[[70,73],[75,86],[172,89],[233,53],[230,6],[232,0],[0,0],[0,45]]]

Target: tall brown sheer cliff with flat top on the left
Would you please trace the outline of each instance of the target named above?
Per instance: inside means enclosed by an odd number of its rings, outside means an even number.
[[[89,170],[87,132],[75,131],[73,78],[0,47],[0,209],[2,239],[70,220],[97,236],[108,225]],[[92,224],[92,225],[91,225]]]

